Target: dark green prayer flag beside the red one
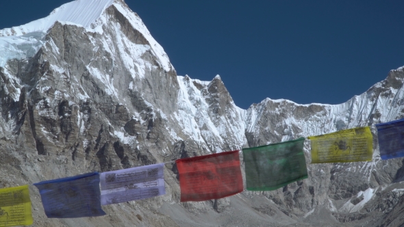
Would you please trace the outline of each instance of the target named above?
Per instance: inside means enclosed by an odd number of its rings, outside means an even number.
[[[305,138],[243,148],[247,190],[272,191],[307,178]]]

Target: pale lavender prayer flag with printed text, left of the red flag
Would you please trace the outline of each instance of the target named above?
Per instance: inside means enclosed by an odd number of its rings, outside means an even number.
[[[164,195],[164,163],[101,173],[101,204]]]

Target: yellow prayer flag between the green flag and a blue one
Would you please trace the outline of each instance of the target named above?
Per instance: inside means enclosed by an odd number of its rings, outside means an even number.
[[[369,127],[308,137],[312,163],[372,161],[373,136]]]

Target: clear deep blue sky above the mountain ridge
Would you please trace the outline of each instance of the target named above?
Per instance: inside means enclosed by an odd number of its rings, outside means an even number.
[[[69,0],[1,1],[0,29]],[[178,75],[220,75],[247,109],[264,98],[344,103],[404,66],[404,1],[126,0]]]

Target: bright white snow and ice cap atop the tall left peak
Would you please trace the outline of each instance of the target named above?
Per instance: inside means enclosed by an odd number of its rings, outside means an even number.
[[[108,21],[111,20],[111,14],[108,11],[111,10],[116,11],[119,17],[125,18],[125,25],[121,27],[134,29],[142,34],[147,40],[144,44],[150,46],[166,72],[174,69],[162,46],[155,41],[140,17],[132,12],[123,0],[76,0],[56,8],[45,18],[0,30],[0,67],[5,66],[9,59],[24,59],[35,55],[45,43],[44,34],[57,22],[84,27],[85,31],[103,34],[105,29],[109,29]],[[31,48],[32,46],[34,47]]]

